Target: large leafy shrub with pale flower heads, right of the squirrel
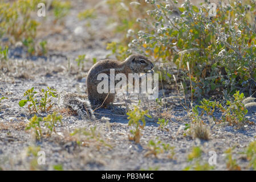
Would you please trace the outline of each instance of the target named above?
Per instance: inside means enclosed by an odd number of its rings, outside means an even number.
[[[198,9],[190,1],[184,1],[178,10],[176,1],[147,2],[154,10],[148,10],[148,18],[141,21],[140,27],[144,27],[135,30],[137,38],[129,43],[130,51],[175,63],[187,73],[184,79],[192,80],[196,97],[255,90],[255,1],[218,4],[213,17],[206,7]],[[174,15],[174,10],[180,15]]]

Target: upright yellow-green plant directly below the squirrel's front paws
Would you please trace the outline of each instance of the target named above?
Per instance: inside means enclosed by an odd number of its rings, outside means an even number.
[[[128,126],[135,126],[135,130],[130,130],[130,134],[132,134],[132,136],[128,134],[129,140],[133,140],[135,143],[140,143],[140,129],[144,129],[146,124],[145,115],[151,118],[151,115],[148,115],[147,113],[148,110],[140,110],[138,106],[135,106],[133,110],[127,112],[129,119]],[[141,125],[140,122],[143,122],[143,125]]]

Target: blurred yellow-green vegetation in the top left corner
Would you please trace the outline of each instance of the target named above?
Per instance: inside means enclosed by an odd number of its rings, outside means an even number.
[[[7,41],[0,46],[11,46],[22,42],[30,55],[45,55],[47,53],[47,42],[36,40],[36,33],[39,22],[36,20],[38,3],[46,4],[46,1],[39,0],[18,0],[0,2],[0,38]],[[50,5],[54,12],[55,20],[62,19],[70,10],[70,2],[54,0]],[[38,49],[36,46],[38,45]],[[1,51],[1,50],[0,50]]]

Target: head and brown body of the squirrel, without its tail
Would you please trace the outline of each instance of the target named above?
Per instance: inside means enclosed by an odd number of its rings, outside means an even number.
[[[88,72],[87,76],[87,94],[92,106],[108,106],[115,99],[115,93],[98,93],[97,85],[101,80],[97,80],[100,73],[110,74],[110,69],[115,69],[117,73],[124,73],[128,78],[129,73],[147,73],[152,71],[153,63],[145,56],[131,55],[123,62],[105,59],[97,62]],[[116,83],[115,83],[116,84]]]

